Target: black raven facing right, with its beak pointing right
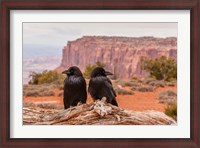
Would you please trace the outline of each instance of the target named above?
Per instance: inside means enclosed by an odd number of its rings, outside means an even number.
[[[112,73],[105,71],[102,67],[95,68],[91,73],[88,91],[94,101],[106,97],[108,103],[118,106],[116,93],[107,75],[112,75]]]

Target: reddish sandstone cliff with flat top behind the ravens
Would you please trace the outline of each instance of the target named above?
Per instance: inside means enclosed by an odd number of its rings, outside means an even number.
[[[143,76],[140,57],[177,57],[177,39],[154,37],[84,36],[69,41],[63,48],[61,65],[57,70],[76,65],[82,71],[86,65],[101,61],[118,78]]]

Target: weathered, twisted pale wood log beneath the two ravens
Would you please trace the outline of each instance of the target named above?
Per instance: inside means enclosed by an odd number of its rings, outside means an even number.
[[[130,111],[97,100],[67,110],[45,105],[23,107],[23,123],[36,125],[171,125],[176,124],[163,112]]]

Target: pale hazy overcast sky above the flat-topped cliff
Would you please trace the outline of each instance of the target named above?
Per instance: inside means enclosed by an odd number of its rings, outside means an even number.
[[[23,23],[23,44],[62,48],[85,35],[177,37],[177,23]]]

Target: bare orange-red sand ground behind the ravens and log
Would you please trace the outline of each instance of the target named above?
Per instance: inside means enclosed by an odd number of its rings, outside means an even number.
[[[119,107],[128,110],[158,110],[164,111],[166,105],[159,103],[159,93],[164,90],[173,90],[176,92],[176,87],[165,86],[157,88],[153,92],[134,92],[133,95],[117,95]],[[24,102],[48,102],[63,105],[63,97],[58,97],[58,90],[55,90],[56,96],[51,97],[24,97]],[[91,103],[91,96],[88,95],[87,103]]]

